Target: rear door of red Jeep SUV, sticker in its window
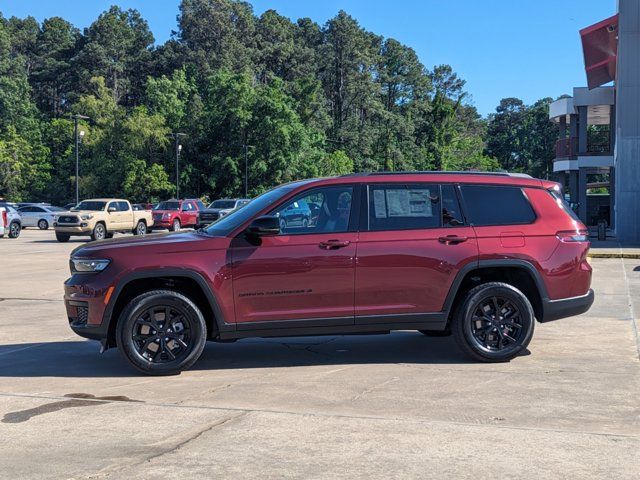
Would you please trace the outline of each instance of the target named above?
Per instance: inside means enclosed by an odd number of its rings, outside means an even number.
[[[442,311],[457,273],[478,258],[457,188],[372,184],[367,198],[357,251],[356,323]]]

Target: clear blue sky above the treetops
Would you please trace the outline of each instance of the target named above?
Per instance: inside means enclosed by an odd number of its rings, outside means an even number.
[[[480,113],[501,98],[526,103],[586,85],[578,30],[615,13],[615,0],[251,0],[292,19],[323,24],[343,9],[377,34],[413,47],[427,67],[448,63]],[[87,27],[117,4],[136,8],[156,42],[176,29],[179,0],[0,0],[5,17],[61,16]]]

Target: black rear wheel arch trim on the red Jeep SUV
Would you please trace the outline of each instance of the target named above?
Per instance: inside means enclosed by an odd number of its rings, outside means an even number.
[[[455,306],[462,301],[466,292],[482,283],[494,281],[518,288],[531,302],[536,319],[541,320],[544,317],[544,305],[549,301],[549,297],[536,267],[531,262],[521,259],[495,259],[473,262],[458,272],[444,305],[449,321]]]

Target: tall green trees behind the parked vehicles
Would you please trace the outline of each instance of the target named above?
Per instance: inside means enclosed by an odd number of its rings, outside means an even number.
[[[250,195],[300,178],[381,170],[510,170],[546,176],[550,99],[505,99],[482,119],[448,65],[369,32],[344,11],[318,25],[241,0],[182,0],[154,45],[117,6],[80,32],[0,15],[0,193],[150,201]],[[606,132],[592,132],[604,138]],[[248,178],[245,179],[245,164]]]

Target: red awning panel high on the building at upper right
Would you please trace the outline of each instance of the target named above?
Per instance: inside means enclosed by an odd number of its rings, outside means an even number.
[[[596,88],[616,78],[618,15],[580,30],[587,85]]]

